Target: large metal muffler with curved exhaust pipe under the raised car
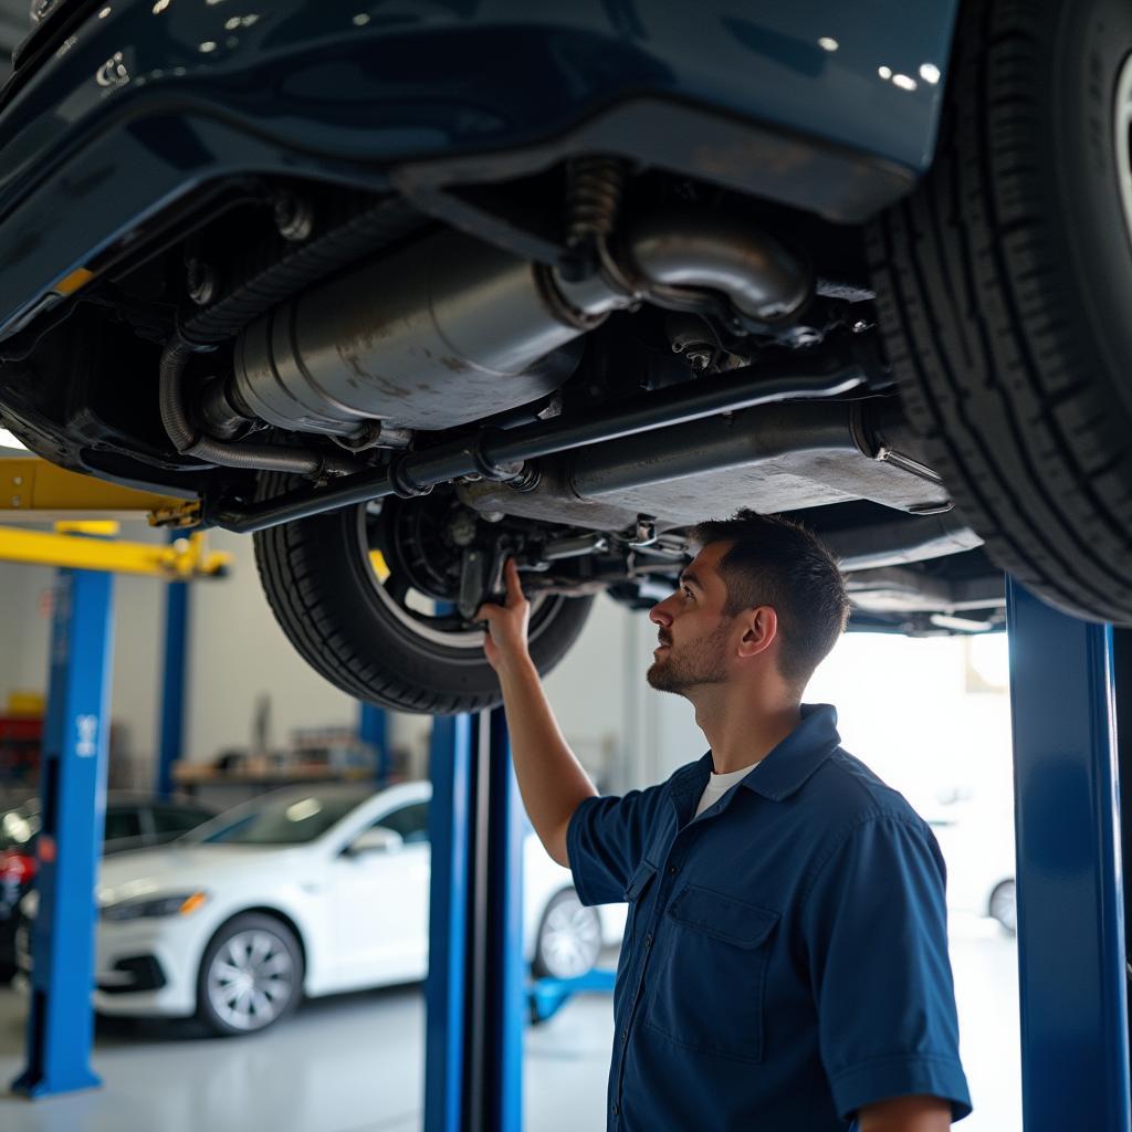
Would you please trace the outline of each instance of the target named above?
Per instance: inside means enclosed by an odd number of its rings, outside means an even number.
[[[800,309],[806,266],[726,216],[672,212],[631,225],[580,280],[461,232],[320,283],[250,324],[235,394],[280,428],[354,436],[372,420],[437,430],[558,388],[561,348],[611,311],[722,293],[760,321]],[[565,370],[565,372],[564,372]]]

